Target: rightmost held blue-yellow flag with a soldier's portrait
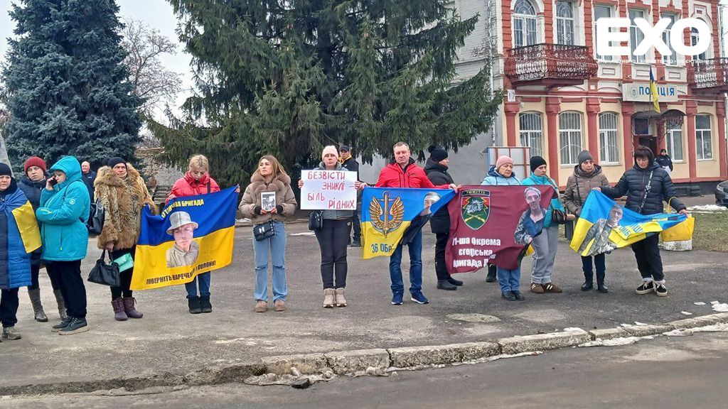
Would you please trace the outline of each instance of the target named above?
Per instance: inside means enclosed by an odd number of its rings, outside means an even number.
[[[670,229],[686,219],[687,216],[678,213],[641,215],[625,209],[600,191],[591,191],[574,227],[570,246],[579,255],[606,253]]]

